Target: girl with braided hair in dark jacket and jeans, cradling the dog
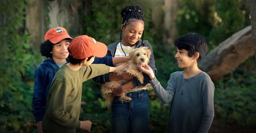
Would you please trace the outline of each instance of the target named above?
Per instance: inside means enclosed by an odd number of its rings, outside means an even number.
[[[149,66],[156,74],[154,54],[152,46],[147,40],[143,40],[144,34],[144,13],[140,6],[126,6],[121,10],[123,18],[121,25],[120,40],[108,45],[107,56],[123,57],[128,56],[134,48],[148,47],[152,54],[150,56]],[[123,36],[122,36],[123,32]],[[122,38],[123,37],[123,38]],[[122,40],[121,40],[122,38]],[[148,91],[152,89],[149,83],[149,76],[144,75],[144,84],[141,84],[135,77],[125,85],[114,89],[114,100],[111,105],[111,123],[113,133],[147,133],[149,125],[149,97]],[[94,78],[96,83],[105,83],[107,81],[129,79],[127,73],[122,76],[115,73],[108,73]],[[142,89],[140,86],[147,86]],[[131,97],[130,102],[121,102],[119,97],[122,93]]]

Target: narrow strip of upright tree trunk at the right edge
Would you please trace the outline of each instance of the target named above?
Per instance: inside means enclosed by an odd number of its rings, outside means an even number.
[[[256,57],[256,0],[249,0],[252,26],[252,39],[254,43],[254,56]]]

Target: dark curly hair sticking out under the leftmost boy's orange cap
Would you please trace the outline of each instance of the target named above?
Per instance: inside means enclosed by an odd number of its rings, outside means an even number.
[[[70,36],[70,37],[72,37],[72,36]],[[70,39],[70,38],[66,38],[66,40],[68,40],[69,43],[72,41],[72,39]],[[53,46],[54,46],[54,44],[52,42],[50,42],[49,40],[46,40],[44,43],[40,43],[41,55],[45,56],[46,58],[52,58],[52,54],[50,52],[52,52]]]

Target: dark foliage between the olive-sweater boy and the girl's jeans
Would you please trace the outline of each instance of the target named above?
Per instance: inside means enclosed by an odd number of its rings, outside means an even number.
[[[100,84],[92,79],[83,83],[80,120],[92,121],[91,133],[108,133],[112,129],[106,99],[102,97]],[[77,130],[77,133],[86,132]]]

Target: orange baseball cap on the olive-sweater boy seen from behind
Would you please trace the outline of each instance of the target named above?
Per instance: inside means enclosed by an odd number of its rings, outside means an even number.
[[[70,56],[75,59],[85,59],[91,56],[104,57],[108,48],[102,42],[97,42],[87,35],[75,37],[68,45]]]

